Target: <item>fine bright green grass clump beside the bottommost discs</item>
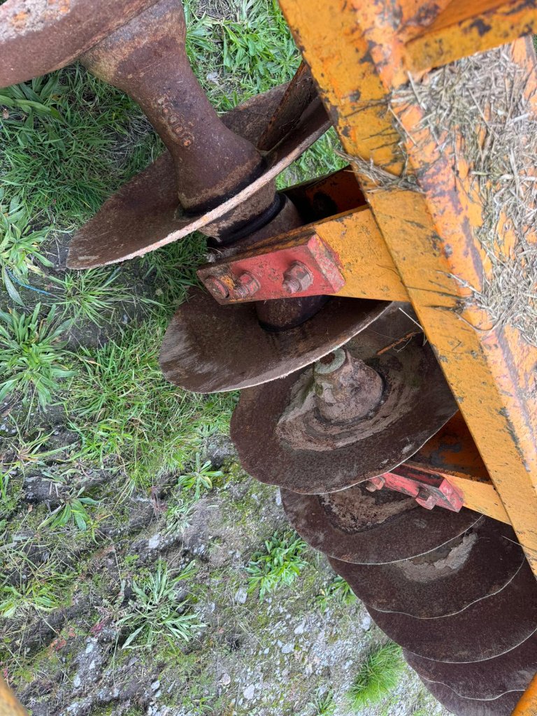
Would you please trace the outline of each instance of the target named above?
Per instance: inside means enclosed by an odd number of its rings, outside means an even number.
[[[352,682],[348,699],[353,709],[379,704],[399,683],[404,661],[401,647],[393,642],[373,647]]]

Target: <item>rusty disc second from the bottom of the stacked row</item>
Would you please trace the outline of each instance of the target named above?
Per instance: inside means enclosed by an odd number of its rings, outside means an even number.
[[[444,684],[465,698],[490,699],[526,690],[537,672],[537,632],[510,652],[483,662],[446,664],[410,652],[405,659],[427,682]]]

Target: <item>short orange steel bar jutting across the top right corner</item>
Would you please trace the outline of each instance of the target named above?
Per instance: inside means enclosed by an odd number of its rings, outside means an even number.
[[[536,10],[534,0],[453,0],[406,43],[407,67],[439,67],[536,32]]]

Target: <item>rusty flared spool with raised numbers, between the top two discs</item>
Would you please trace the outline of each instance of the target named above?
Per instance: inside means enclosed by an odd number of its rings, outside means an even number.
[[[173,158],[180,205],[195,214],[249,186],[263,165],[253,144],[218,117],[190,67],[185,40],[182,4],[159,0],[80,59],[140,105]],[[249,210],[262,213],[273,201],[269,186]]]

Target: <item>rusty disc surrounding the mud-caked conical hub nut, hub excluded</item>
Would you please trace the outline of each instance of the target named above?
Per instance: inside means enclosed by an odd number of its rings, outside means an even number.
[[[405,319],[401,311],[387,313],[345,347],[380,374],[384,392],[371,414],[342,427],[343,447],[334,440],[299,449],[279,433],[282,415],[297,387],[312,379],[313,367],[241,393],[231,437],[250,475],[299,493],[344,490],[405,462],[455,415],[448,384],[421,336],[387,348],[405,335],[401,316]],[[316,430],[324,435],[322,424]]]

